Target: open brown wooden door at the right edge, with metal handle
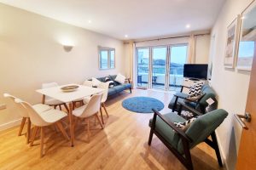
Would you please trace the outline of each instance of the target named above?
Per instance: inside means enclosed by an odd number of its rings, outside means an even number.
[[[254,41],[253,67],[247,95],[246,111],[252,116],[251,122],[245,122],[248,129],[241,133],[236,169],[256,169],[256,42]]]

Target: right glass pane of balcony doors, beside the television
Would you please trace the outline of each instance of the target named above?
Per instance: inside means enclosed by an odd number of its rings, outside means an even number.
[[[180,91],[183,85],[184,64],[187,62],[188,45],[181,44],[170,47],[169,90]]]

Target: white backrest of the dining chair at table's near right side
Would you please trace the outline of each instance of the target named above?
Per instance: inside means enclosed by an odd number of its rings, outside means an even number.
[[[101,101],[102,101],[102,94],[93,95],[90,98],[86,107],[84,108],[84,111],[82,112],[80,117],[89,117],[96,114],[96,112],[100,111]]]

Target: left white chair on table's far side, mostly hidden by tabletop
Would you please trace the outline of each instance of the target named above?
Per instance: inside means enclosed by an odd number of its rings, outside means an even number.
[[[57,82],[49,82],[49,83],[42,84],[42,88],[53,88],[53,87],[57,87],[57,86],[59,86]],[[49,98],[48,96],[45,96],[44,104],[54,106],[55,109],[57,106],[59,106],[60,110],[61,110],[61,105],[64,105],[65,109],[68,112],[67,104],[61,102],[60,100],[52,99],[52,98]]]

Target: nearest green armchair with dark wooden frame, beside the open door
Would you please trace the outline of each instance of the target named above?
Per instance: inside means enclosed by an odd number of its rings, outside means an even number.
[[[183,106],[183,104],[180,104]],[[186,105],[187,106],[187,105]],[[189,107],[186,107],[189,109]],[[149,121],[150,133],[148,145],[151,144],[153,134],[155,134],[165,145],[177,156],[187,169],[193,169],[193,164],[190,156],[190,149],[201,142],[206,142],[212,149],[215,150],[218,158],[218,165],[222,167],[221,156],[218,150],[218,142],[216,139],[215,129],[224,122],[228,113],[222,109],[211,111],[207,114],[201,115],[200,112],[191,109],[199,116],[195,122],[192,122],[189,128],[183,132],[176,127],[173,122],[185,122],[183,117],[171,112],[161,115],[158,111],[154,111],[154,117]],[[211,136],[212,140],[208,139]]]

